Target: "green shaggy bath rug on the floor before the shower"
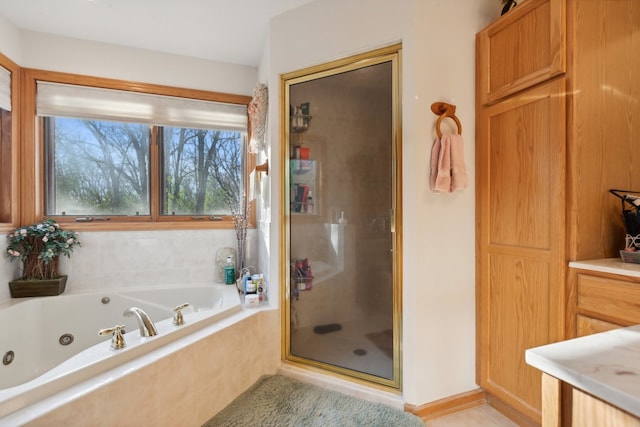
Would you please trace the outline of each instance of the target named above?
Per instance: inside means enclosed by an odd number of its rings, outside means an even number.
[[[281,375],[261,377],[203,427],[424,427],[400,409]]]

